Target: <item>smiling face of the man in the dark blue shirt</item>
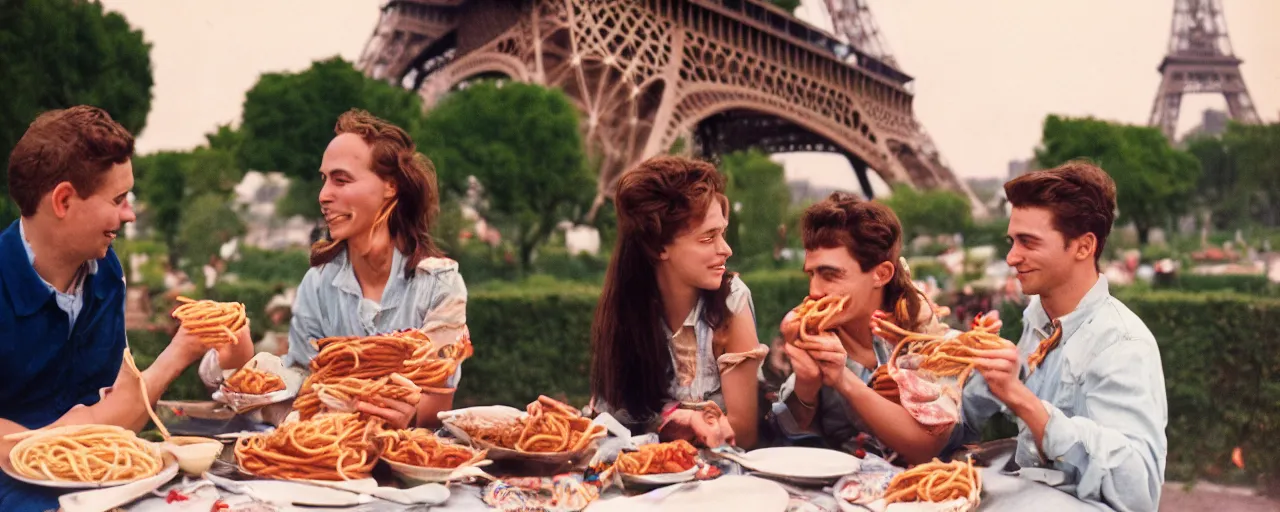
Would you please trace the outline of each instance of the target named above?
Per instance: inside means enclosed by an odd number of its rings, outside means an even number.
[[[111,165],[88,197],[79,197],[70,182],[59,183],[51,193],[54,201],[65,205],[59,227],[60,244],[86,261],[105,257],[120,228],[137,220],[129,205],[132,188],[133,163],[129,160]]]

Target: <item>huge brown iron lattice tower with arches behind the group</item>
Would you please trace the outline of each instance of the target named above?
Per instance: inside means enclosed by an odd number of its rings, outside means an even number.
[[[874,172],[960,192],[984,214],[915,119],[913,78],[859,24],[863,0],[845,4],[859,10],[842,41],[762,0],[392,0],[357,65],[428,109],[486,77],[563,90],[602,160],[596,205],[626,169],[685,140],[703,156],[836,152],[868,197]]]

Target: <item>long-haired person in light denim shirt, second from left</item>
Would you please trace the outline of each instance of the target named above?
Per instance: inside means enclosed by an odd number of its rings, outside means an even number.
[[[320,163],[329,236],[311,247],[298,284],[285,364],[306,366],[319,338],[410,328],[428,330],[436,344],[466,335],[466,284],[430,236],[440,210],[431,161],[408,133],[364,110],[342,114],[334,133]],[[449,393],[358,408],[403,428],[434,425],[452,404]]]

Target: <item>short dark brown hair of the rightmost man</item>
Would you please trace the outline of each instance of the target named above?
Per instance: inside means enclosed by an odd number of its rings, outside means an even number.
[[[1069,161],[1048,170],[1023,174],[1005,183],[1005,197],[1014,207],[1042,207],[1053,214],[1053,229],[1071,241],[1093,233],[1098,247],[1093,265],[1116,220],[1116,182],[1087,161]]]

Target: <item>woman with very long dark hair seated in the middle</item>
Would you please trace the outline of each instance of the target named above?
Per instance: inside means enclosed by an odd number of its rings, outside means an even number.
[[[622,175],[614,205],[618,241],[591,325],[593,408],[636,434],[754,445],[768,351],[751,292],[726,270],[724,178],[659,156]]]

